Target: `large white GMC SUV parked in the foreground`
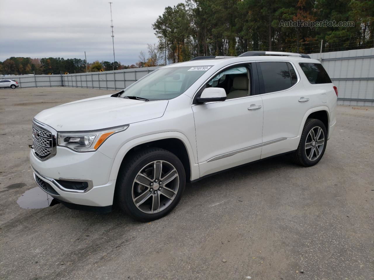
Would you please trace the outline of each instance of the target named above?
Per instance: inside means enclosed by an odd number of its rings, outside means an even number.
[[[196,57],[116,94],[40,112],[31,167],[70,208],[116,204],[154,220],[177,205],[186,181],[284,153],[315,165],[334,131],[337,94],[307,55]]]

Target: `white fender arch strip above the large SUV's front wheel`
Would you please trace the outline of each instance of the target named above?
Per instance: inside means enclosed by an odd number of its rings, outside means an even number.
[[[114,159],[110,180],[116,180],[121,164],[142,147],[160,147],[174,153],[182,162],[187,181],[199,177],[199,168],[187,137],[181,133],[158,133],[133,139],[124,144]]]

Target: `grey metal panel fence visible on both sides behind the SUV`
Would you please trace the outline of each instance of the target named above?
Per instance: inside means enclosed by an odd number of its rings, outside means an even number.
[[[321,59],[332,82],[338,87],[338,104],[374,106],[374,48],[343,52],[313,53]],[[77,87],[122,90],[158,67],[89,72],[68,75],[3,76],[20,87]]]

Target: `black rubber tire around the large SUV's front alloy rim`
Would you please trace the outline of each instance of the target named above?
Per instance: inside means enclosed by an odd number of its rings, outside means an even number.
[[[125,161],[126,162],[123,162],[121,165],[117,176],[116,191],[114,194],[117,206],[135,220],[143,222],[157,220],[168,214],[180,201],[186,186],[186,172],[180,159],[168,150],[149,147],[140,152],[134,153],[130,158],[126,158]],[[134,181],[138,173],[142,171],[145,166],[154,161],[166,161],[174,166],[178,172],[179,185],[177,183],[177,193],[171,204],[160,212],[150,214],[143,212],[135,205],[133,200],[133,185],[135,184]],[[147,191],[144,193],[146,192]],[[153,198],[150,197],[150,199]],[[159,205],[161,206],[161,200]]]

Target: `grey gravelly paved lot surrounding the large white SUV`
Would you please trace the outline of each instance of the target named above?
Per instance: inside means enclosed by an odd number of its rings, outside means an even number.
[[[316,166],[283,156],[206,178],[151,223],[20,208],[33,116],[108,93],[0,90],[0,279],[374,279],[373,107],[338,106]]]

